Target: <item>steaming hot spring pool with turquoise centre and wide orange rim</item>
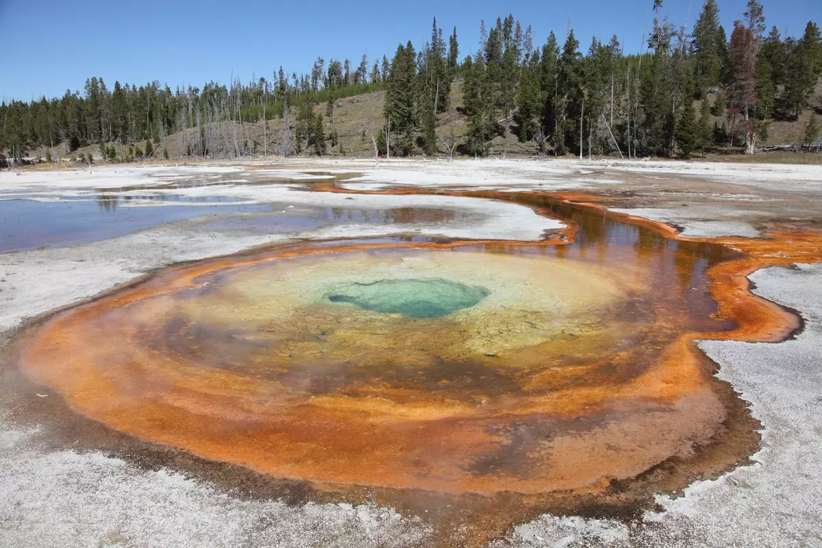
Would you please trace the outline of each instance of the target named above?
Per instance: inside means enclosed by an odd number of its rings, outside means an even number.
[[[33,325],[16,361],[140,450],[296,481],[308,499],[431,509],[446,544],[545,511],[635,515],[745,462],[755,421],[694,341],[797,327],[748,291],[755,250],[495,197],[569,228],[181,265]]]

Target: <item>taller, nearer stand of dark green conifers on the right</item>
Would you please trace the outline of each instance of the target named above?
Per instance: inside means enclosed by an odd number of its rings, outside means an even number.
[[[464,152],[488,154],[496,138],[513,133],[542,154],[687,158],[713,145],[752,153],[767,138],[770,121],[795,120],[810,106],[822,74],[815,22],[799,39],[781,36],[775,26],[764,35],[763,7],[751,0],[728,39],[715,0],[704,2],[691,30],[663,18],[662,3],[654,0],[653,28],[643,37],[647,50],[636,54],[624,53],[617,35],[607,42],[593,37],[583,53],[573,29],[563,44],[552,32],[533,48],[530,27],[523,30],[513,16],[497,19],[491,30],[482,22],[478,51],[458,69],[468,126]],[[440,72],[451,59],[449,52],[445,60],[439,37],[435,21],[416,65],[410,43],[391,62],[389,154],[413,154],[412,144],[420,152],[436,149],[432,114],[447,95],[433,89],[454,73]],[[811,117],[813,131],[815,124]]]

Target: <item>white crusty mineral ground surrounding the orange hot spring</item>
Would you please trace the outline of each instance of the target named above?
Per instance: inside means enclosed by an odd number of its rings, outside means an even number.
[[[276,166],[275,166],[276,167]],[[822,167],[764,164],[568,161],[331,161],[268,165],[173,165],[61,172],[0,173],[0,198],[15,194],[83,196],[96,188],[153,188],[242,202],[390,209],[437,208],[468,213],[464,224],[419,223],[380,228],[346,223],[311,234],[205,232],[182,221],[99,242],[0,254],[0,332],[25,318],[65,306],[152,269],[293,237],[362,237],[415,232],[452,237],[536,239],[560,225],[529,208],[446,196],[349,196],[309,193],[295,185],[313,173],[346,174],[344,186],[459,187],[507,191],[614,190],[644,182],[680,185],[671,204],[623,209],[675,223],[693,236],[753,236],[754,222],[814,214],[822,200]],[[306,169],[312,174],[306,173]],[[251,186],[271,177],[279,184]],[[678,181],[677,181],[678,177]],[[163,189],[201,180],[223,186]],[[696,182],[719,184],[694,191]],[[727,185],[723,191],[721,185]],[[740,191],[740,186],[746,191]],[[127,190],[125,190],[127,191]],[[746,192],[750,191],[750,196]],[[797,196],[762,210],[775,191]],[[651,190],[649,190],[649,193]],[[708,196],[699,196],[703,193]],[[73,193],[73,195],[72,195]],[[137,192],[136,192],[137,193]],[[712,200],[710,207],[701,200]],[[57,198],[58,200],[60,198]],[[727,210],[716,208],[717,200]],[[682,213],[686,202],[696,213]],[[803,205],[804,204],[804,205]],[[702,209],[700,209],[702,208]],[[711,209],[713,208],[713,209]],[[717,217],[720,217],[717,219]],[[751,221],[755,219],[755,221]],[[2,220],[2,219],[0,219]],[[822,546],[822,266],[753,274],[755,292],[796,309],[805,329],[783,343],[704,341],[719,377],[751,403],[763,425],[754,463],[681,496],[661,496],[663,511],[634,523],[546,515],[520,524],[496,546]],[[42,394],[42,392],[41,392]],[[54,397],[53,394],[44,394]],[[37,394],[23,394],[38,398]],[[424,520],[373,504],[303,504],[247,500],[173,471],[146,472],[103,454],[45,449],[38,431],[0,409],[0,546],[426,546]]]

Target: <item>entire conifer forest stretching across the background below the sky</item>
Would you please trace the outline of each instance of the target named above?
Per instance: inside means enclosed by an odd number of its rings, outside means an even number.
[[[381,130],[363,130],[363,140],[392,157],[483,156],[495,139],[515,136],[533,154],[689,158],[717,146],[753,154],[770,122],[815,108],[822,36],[814,21],[799,37],[780,35],[776,26],[767,30],[762,5],[750,0],[728,36],[716,0],[706,0],[687,29],[661,15],[662,3],[653,0],[638,53],[624,52],[617,34],[581,48],[572,28],[562,41],[551,32],[534,44],[531,27],[509,15],[482,21],[476,51],[463,48],[464,57],[456,28],[446,39],[435,19],[426,44],[400,43],[392,58],[317,58],[311,71],[279,67],[270,80],[247,84],[233,78],[172,90],[158,81],[109,87],[92,77],[62,97],[3,102],[0,150],[15,163],[29,150],[58,145],[67,154],[97,145],[109,161],[168,158],[171,143],[191,158],[335,154],[339,136],[323,112],[333,116],[336,100],[384,91],[383,112],[375,113]],[[455,82],[459,135],[442,126]],[[275,119],[279,129],[270,131]],[[249,124],[262,127],[262,136]],[[805,134],[819,137],[815,114]]]

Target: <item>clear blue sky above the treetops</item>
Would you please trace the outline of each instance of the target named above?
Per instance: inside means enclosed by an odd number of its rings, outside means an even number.
[[[690,30],[704,0],[664,0],[663,15]],[[761,0],[766,24],[801,35],[809,20],[822,24],[822,0]],[[747,0],[718,0],[723,25],[745,11]],[[533,26],[534,45],[554,30],[560,42],[570,26],[587,50],[591,37],[616,34],[626,52],[640,48],[650,25],[653,0],[508,0],[492,2],[59,2],[0,0],[0,99],[31,99],[82,90],[85,79],[101,76],[138,86],[159,80],[174,89],[206,81],[243,82],[272,74],[310,71],[318,57],[348,57],[357,66],[363,52],[369,65],[397,44],[415,47],[430,38],[432,17],[446,35],[456,25],[459,58],[478,48],[479,21],[490,28],[497,16],[512,13]],[[690,12],[690,13],[689,13]],[[326,64],[327,66],[327,64]]]

